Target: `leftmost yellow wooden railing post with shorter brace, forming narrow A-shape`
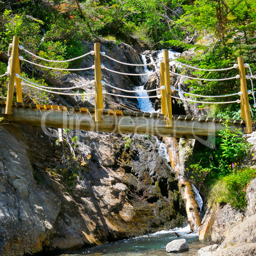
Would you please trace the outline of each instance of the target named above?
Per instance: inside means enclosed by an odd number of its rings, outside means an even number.
[[[22,102],[22,90],[20,85],[20,78],[16,78],[15,74],[20,75],[20,61],[18,59],[18,36],[13,37],[13,46],[11,51],[11,63],[10,63],[10,78],[8,83],[7,100],[5,114],[11,114],[11,107],[13,103],[13,91],[16,81],[17,87],[17,101]]]

